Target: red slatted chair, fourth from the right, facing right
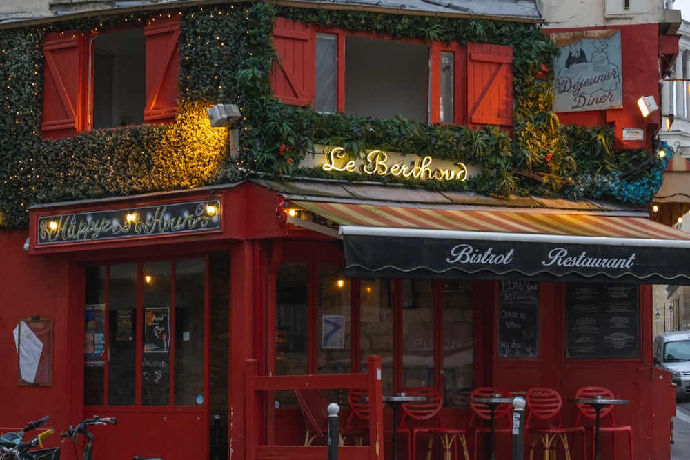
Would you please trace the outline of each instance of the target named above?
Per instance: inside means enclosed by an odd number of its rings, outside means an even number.
[[[444,460],[451,460],[451,448],[453,448],[454,458],[457,460],[457,442],[462,444],[465,460],[469,460],[469,450],[467,449],[467,430],[463,428],[444,426],[441,416],[443,407],[443,396],[433,388],[414,387],[406,388],[404,393],[410,396],[423,396],[426,401],[410,402],[402,404],[402,417],[398,432],[408,434],[408,459],[414,460],[417,450],[417,436],[428,434],[428,448],[426,450],[426,460],[431,459],[431,451],[436,439],[441,443],[444,452]]]

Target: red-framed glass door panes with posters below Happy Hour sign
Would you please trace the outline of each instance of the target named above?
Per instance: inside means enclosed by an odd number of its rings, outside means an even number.
[[[199,406],[204,257],[86,268],[84,403]]]

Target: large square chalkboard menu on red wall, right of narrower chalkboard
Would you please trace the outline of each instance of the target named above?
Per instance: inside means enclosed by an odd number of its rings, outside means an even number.
[[[566,357],[639,357],[638,297],[633,284],[569,284]]]

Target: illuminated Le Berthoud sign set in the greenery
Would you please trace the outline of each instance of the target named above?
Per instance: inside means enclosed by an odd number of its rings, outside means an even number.
[[[315,154],[307,154],[299,166],[322,168],[333,172],[359,172],[371,176],[394,176],[427,181],[466,181],[480,174],[481,166],[466,166],[457,161],[403,155],[384,150],[367,150],[356,158],[348,156],[344,148],[315,146]]]

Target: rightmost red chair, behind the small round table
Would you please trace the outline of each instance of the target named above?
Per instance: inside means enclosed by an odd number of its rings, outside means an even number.
[[[585,386],[580,388],[577,392],[575,392],[575,398],[603,398],[603,399],[616,399],[615,394],[608,388],[604,388],[601,386]],[[583,419],[590,419],[591,421],[595,421],[597,419],[597,412],[595,408],[590,406],[589,404],[584,404],[584,403],[577,403],[578,406],[578,418],[575,420],[575,423],[580,424]],[[592,422],[590,422],[592,423]],[[599,432],[601,433],[611,433],[611,447],[613,450],[613,459],[618,460],[621,457],[619,456],[618,452],[615,450],[615,434],[619,432],[624,432],[628,434],[628,441],[630,445],[630,458],[634,459],[635,458],[635,443],[633,441],[633,427],[630,425],[616,425],[615,424],[615,418],[613,417],[613,405],[608,404],[602,406],[599,412]],[[607,423],[606,425],[602,425],[602,423]],[[595,426],[587,425],[585,428],[588,428],[592,432],[592,458],[595,458],[595,454],[598,453],[595,451],[596,449],[596,431],[595,431]]]

